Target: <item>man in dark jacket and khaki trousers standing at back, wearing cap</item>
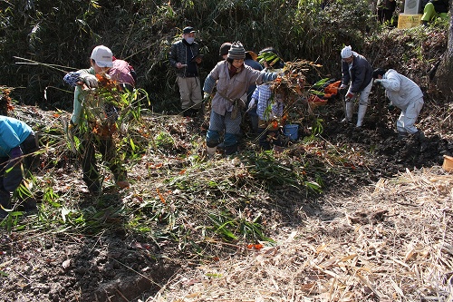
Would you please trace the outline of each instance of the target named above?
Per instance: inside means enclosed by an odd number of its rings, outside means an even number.
[[[198,66],[201,63],[199,46],[195,42],[196,31],[193,27],[182,30],[182,39],[171,44],[169,64],[176,69],[181,100],[181,109],[185,116],[195,117],[201,110],[201,83]]]

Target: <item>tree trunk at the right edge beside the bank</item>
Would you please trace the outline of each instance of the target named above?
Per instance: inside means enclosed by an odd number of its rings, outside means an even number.
[[[453,85],[451,85],[451,79],[453,79],[453,5],[450,5],[449,12],[450,21],[447,51],[439,59],[438,71],[436,72],[434,70],[432,74],[429,74],[429,77],[434,83],[437,83],[440,93],[446,98],[451,99],[453,96]]]

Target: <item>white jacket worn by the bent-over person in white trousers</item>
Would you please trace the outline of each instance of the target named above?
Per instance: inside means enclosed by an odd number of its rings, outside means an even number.
[[[406,110],[410,102],[419,99],[423,102],[423,93],[419,85],[393,69],[389,69],[384,74],[381,84],[385,88],[385,93],[390,102],[400,110]]]

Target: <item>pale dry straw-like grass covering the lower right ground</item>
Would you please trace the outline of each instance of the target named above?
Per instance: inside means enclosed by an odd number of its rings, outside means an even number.
[[[150,301],[452,301],[453,175],[407,170],[281,229],[275,247],[181,270]]]

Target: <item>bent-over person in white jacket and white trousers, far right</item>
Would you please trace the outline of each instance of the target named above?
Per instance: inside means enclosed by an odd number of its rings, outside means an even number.
[[[393,69],[388,71],[382,68],[375,69],[372,77],[375,84],[381,84],[385,88],[385,94],[390,100],[390,109],[391,106],[395,106],[401,110],[396,122],[398,137],[404,139],[411,135],[416,140],[423,141],[424,133],[414,125],[424,103],[419,85]]]

